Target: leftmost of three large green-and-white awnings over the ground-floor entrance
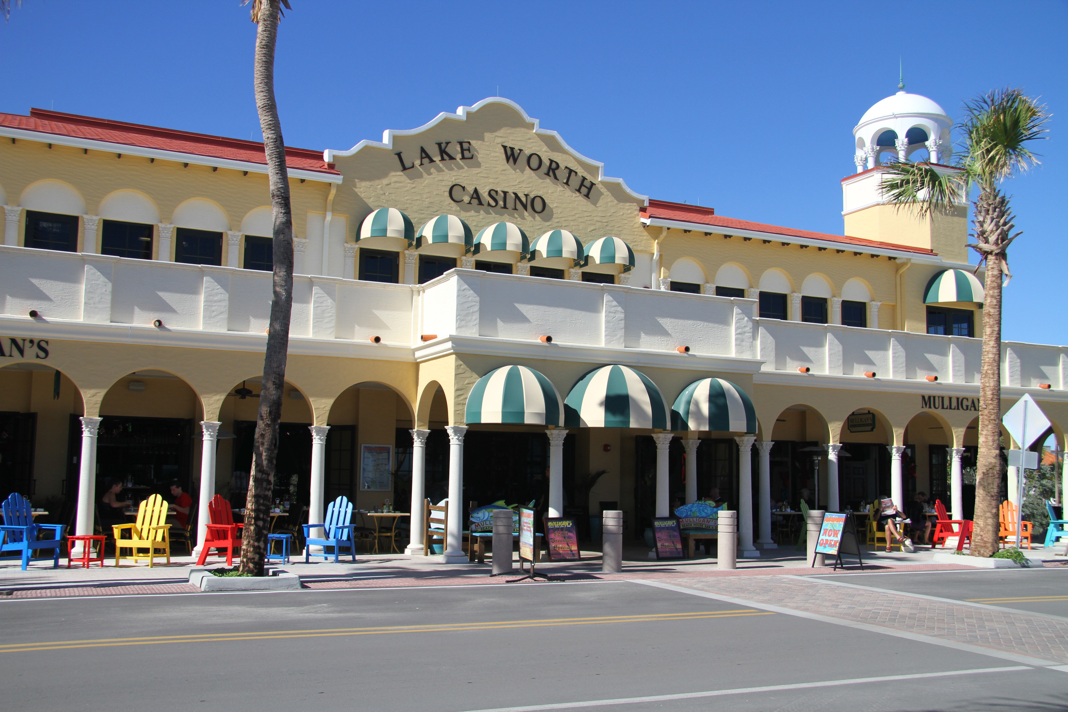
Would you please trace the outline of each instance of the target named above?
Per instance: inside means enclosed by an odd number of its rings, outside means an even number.
[[[468,394],[468,425],[561,425],[564,408],[552,382],[527,366],[501,366],[480,378]]]

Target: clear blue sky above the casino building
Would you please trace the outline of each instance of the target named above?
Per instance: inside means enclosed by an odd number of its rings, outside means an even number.
[[[641,193],[835,234],[851,129],[896,91],[899,57],[907,89],[955,117],[1022,86],[1056,116],[1043,164],[1009,187],[1024,234],[1004,336],[1068,344],[1064,0],[290,4],[276,75],[289,145],[348,148],[500,94]],[[0,28],[0,111],[258,139],[254,36],[236,0],[26,0]]]

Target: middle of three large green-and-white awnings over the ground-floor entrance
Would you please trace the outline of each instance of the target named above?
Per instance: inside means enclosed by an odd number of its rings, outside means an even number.
[[[657,384],[627,366],[601,366],[579,379],[564,400],[564,425],[666,430],[668,404]]]

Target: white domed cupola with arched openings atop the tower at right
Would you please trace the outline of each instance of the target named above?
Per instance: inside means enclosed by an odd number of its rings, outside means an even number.
[[[898,89],[865,111],[853,128],[858,173],[891,160],[910,160],[920,151],[926,151],[924,158],[931,163],[946,161],[953,153],[953,120],[942,107],[926,96],[909,94],[904,82]]]

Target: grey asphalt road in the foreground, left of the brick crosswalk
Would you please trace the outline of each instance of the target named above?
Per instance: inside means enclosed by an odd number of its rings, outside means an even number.
[[[629,582],[16,599],[0,612],[7,711],[1068,710],[1063,671]],[[598,703],[664,695],[682,697]]]

